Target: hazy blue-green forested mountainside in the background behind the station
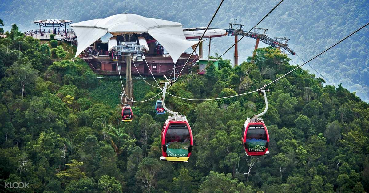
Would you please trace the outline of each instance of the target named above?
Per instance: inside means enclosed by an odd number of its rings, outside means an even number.
[[[210,27],[228,29],[228,23],[244,24],[249,31],[279,0],[232,0],[224,1]],[[205,27],[214,14],[220,0],[127,0],[127,13],[148,18],[166,19],[180,22],[184,28]],[[37,29],[33,23],[37,19],[70,19],[80,22],[89,19],[106,18],[124,13],[125,1],[38,1],[2,0],[0,15],[5,31],[16,23],[22,32]],[[289,0],[283,1],[257,28],[268,29],[269,37],[284,37],[289,47],[304,60],[308,60],[329,45],[368,22],[368,0]],[[350,92],[356,92],[362,100],[369,102],[369,29],[363,29],[350,37],[349,41],[328,51],[327,54],[311,61],[310,65],[334,85],[342,83]],[[234,38],[212,39],[211,54],[222,54],[233,44]],[[206,43],[208,44],[208,43]],[[238,45],[239,61],[251,56],[255,40],[244,38]],[[266,47],[260,43],[259,47]],[[204,46],[207,53],[207,46]],[[231,59],[233,49],[224,58]],[[297,56],[290,56],[293,62],[302,64]],[[293,64],[291,62],[291,64]],[[313,69],[311,73],[320,77]],[[322,77],[320,77],[322,78]],[[327,82],[328,83],[328,82]]]

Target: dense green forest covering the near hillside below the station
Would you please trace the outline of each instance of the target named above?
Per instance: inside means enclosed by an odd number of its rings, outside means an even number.
[[[204,102],[166,97],[167,106],[187,116],[194,135],[189,162],[173,163],[159,160],[168,114],[156,115],[156,99],[134,103],[133,121],[123,123],[118,77],[96,78],[85,61],[70,60],[68,44],[24,37],[15,24],[7,34],[0,39],[3,191],[9,182],[29,182],[22,192],[45,193],[369,191],[368,103],[308,70],[268,87],[266,156],[247,157],[241,142],[246,118],[265,107],[262,95]],[[222,59],[219,71],[211,65],[168,92],[190,99],[232,96],[296,67],[271,47],[251,59],[235,68]],[[133,85],[138,101],[160,92],[139,78]]]

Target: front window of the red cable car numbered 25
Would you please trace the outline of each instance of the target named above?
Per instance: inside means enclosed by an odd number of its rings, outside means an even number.
[[[190,132],[186,124],[170,124],[166,132],[166,154],[169,157],[187,157],[191,143]]]

